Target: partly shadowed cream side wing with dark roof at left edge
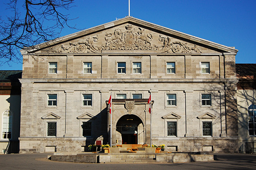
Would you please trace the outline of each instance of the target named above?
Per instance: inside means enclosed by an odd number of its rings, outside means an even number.
[[[21,73],[0,71],[0,153],[19,152]]]

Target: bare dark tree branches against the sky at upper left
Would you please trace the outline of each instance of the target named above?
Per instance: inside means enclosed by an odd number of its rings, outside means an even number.
[[[9,0],[11,16],[0,17],[0,66],[11,61],[21,62],[19,50],[29,51],[39,43],[59,36],[69,15],[62,9],[72,8],[74,0]]]

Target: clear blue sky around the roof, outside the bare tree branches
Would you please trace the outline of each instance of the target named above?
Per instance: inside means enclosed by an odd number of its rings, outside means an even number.
[[[3,3],[3,1],[1,1]],[[128,0],[75,0],[60,36],[128,16]],[[4,6],[0,16],[8,15]],[[256,0],[130,0],[130,16],[238,49],[236,63],[256,63]],[[22,69],[10,63],[0,69]]]

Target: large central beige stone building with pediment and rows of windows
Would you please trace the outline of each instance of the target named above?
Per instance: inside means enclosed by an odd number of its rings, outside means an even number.
[[[110,127],[112,145],[238,152],[237,52],[134,17],[23,49],[20,153],[110,144]]]

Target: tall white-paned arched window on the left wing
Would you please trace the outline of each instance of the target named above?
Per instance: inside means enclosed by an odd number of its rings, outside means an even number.
[[[11,139],[12,113],[10,110],[3,112],[2,139]]]

